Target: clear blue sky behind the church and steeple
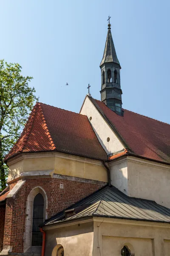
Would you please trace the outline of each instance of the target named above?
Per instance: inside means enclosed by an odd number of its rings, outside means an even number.
[[[34,77],[40,102],[79,112],[89,81],[100,99],[110,15],[123,108],[170,123],[169,12],[169,0],[1,0],[0,58]]]

